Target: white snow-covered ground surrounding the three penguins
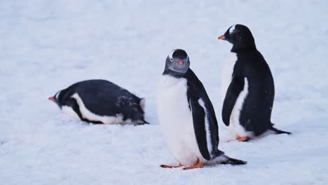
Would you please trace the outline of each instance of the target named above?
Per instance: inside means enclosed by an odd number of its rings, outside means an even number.
[[[296,6],[295,6],[296,5]],[[328,1],[0,3],[0,184],[328,184]],[[275,79],[272,121],[293,135],[233,139],[221,121],[220,77],[250,27]],[[156,79],[174,48],[189,54],[219,121],[219,149],[247,165],[184,171],[156,117]],[[47,97],[104,78],[146,97],[151,125],[88,125]]]

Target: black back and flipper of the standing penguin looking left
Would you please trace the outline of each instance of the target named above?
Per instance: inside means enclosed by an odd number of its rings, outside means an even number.
[[[245,31],[245,26],[242,28]],[[254,132],[254,135],[261,135],[272,126],[271,111],[275,86],[271,70],[255,47],[253,36],[248,28],[246,29],[248,35],[244,34],[242,33],[242,36],[249,38],[244,40],[247,41],[244,42],[245,46],[233,46],[231,50],[237,54],[238,60],[233,68],[233,78],[226,92],[222,119],[226,125],[229,125],[231,111],[244,88],[246,77],[248,94],[240,111],[240,124],[246,130]]]

